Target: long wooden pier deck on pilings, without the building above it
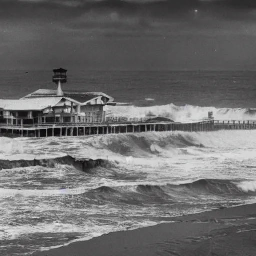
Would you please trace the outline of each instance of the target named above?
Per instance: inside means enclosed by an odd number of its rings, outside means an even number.
[[[138,133],[138,132],[162,132],[162,131],[185,131],[205,132],[218,130],[252,130],[256,129],[256,121],[236,120],[212,120],[205,119],[187,123],[180,122],[125,122],[125,123],[48,123],[40,125],[8,125],[0,124],[2,136],[20,137],[67,137],[89,136],[99,134]]]

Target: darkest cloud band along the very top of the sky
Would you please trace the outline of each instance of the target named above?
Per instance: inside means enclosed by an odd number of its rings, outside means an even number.
[[[220,14],[226,17],[232,17],[235,12],[246,18],[255,8],[255,0],[0,0],[1,17],[5,18],[9,16],[8,11],[14,17],[56,19],[88,12],[100,14],[115,11],[120,15],[178,19],[195,9],[207,11],[208,15]]]

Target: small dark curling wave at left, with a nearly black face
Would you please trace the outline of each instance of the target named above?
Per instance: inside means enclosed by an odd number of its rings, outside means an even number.
[[[72,165],[75,168],[82,170],[84,172],[89,172],[95,167],[111,167],[113,163],[104,159],[85,159],[78,160],[70,155],[56,158],[48,159],[33,159],[33,160],[2,160],[0,159],[0,170],[2,169],[12,169],[20,167],[29,167],[29,166],[43,166],[48,168],[54,168],[56,164],[66,164]]]

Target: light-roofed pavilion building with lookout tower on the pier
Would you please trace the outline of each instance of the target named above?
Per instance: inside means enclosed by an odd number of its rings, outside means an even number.
[[[57,89],[38,89],[17,100],[0,99],[0,123],[24,126],[104,122],[104,106],[115,105],[114,99],[102,92],[62,90],[67,70],[53,71],[52,81]]]

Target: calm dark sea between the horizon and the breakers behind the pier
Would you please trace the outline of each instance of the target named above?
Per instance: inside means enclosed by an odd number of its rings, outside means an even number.
[[[40,88],[52,89],[53,72],[0,71],[1,98],[19,98]],[[102,72],[68,70],[63,89],[101,91],[117,102],[143,105],[256,107],[256,72]]]

